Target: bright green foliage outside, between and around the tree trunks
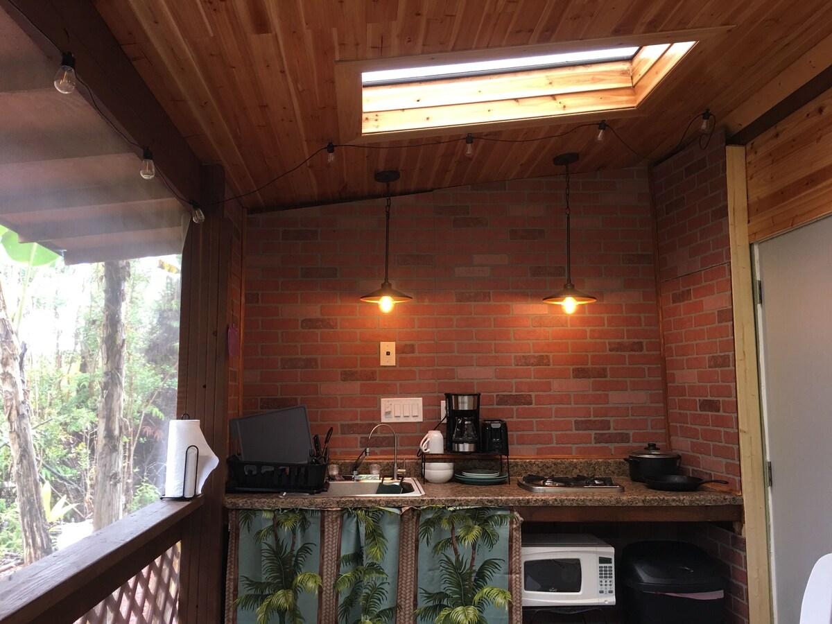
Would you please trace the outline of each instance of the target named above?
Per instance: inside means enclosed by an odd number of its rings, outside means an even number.
[[[0,239],[7,251],[11,239]],[[13,243],[17,245],[16,237]],[[29,262],[31,253],[24,255]],[[41,260],[36,254],[35,264]],[[102,268],[52,260],[32,270],[0,257],[0,284],[10,312],[21,312],[17,336],[27,349],[23,363],[38,472],[60,503],[52,511],[80,520],[92,514],[102,379]],[[179,275],[160,271],[157,260],[131,262],[122,417],[126,513],[157,500],[163,479],[166,425],[176,417],[179,280]],[[17,516],[14,522],[7,519],[16,510],[14,489],[3,488],[13,481],[11,454],[4,445],[7,427],[6,418],[0,418],[0,548],[19,542]]]

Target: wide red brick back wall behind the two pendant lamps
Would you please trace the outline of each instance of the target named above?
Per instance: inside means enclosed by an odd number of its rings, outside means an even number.
[[[379,188],[379,192],[382,189]],[[414,301],[362,304],[384,275],[381,200],[251,215],[244,411],[305,404],[335,453],[366,445],[379,399],[483,394],[514,455],[622,455],[664,442],[645,170],[572,176],[572,275],[598,303],[542,303],[564,282],[562,177],[394,197],[390,277]],[[398,365],[379,366],[395,341]]]

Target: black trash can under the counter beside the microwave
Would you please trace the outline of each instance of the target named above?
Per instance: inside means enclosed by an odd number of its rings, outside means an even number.
[[[624,547],[619,584],[628,624],[719,624],[726,582],[716,561],[687,542]]]

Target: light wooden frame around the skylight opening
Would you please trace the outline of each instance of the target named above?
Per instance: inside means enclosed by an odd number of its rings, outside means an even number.
[[[467,52],[335,63],[340,140],[371,142],[640,114],[638,107],[696,42],[730,26]],[[639,46],[631,61],[364,87],[362,72],[496,56]],[[448,102],[450,87],[458,87]],[[552,104],[554,102],[554,105]],[[443,132],[444,131],[444,132]]]

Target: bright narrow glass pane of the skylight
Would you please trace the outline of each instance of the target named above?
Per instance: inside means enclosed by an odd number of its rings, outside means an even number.
[[[361,82],[364,86],[401,84],[423,80],[438,80],[452,77],[482,76],[506,72],[522,72],[540,67],[567,67],[586,63],[608,61],[630,61],[639,48],[614,47],[605,50],[582,50],[580,52],[560,52],[537,57],[506,57],[489,61],[429,65],[426,67],[404,67],[377,72],[363,72]]]

